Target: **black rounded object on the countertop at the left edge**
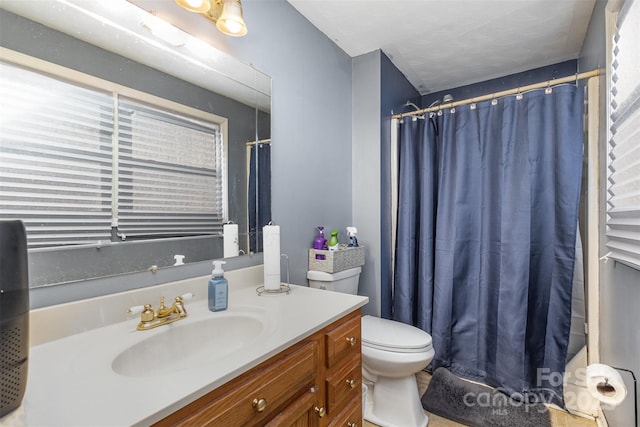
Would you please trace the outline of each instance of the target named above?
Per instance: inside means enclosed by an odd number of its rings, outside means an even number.
[[[0,417],[22,403],[29,362],[29,268],[22,221],[0,221]]]

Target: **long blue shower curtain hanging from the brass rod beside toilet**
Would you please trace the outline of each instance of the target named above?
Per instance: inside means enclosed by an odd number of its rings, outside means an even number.
[[[562,405],[583,94],[518,98],[400,125],[394,318],[432,335],[433,369]]]

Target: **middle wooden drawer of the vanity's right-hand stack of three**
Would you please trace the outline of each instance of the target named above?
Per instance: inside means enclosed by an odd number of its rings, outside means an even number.
[[[337,367],[327,377],[327,412],[333,416],[342,409],[347,401],[361,396],[362,365],[360,355],[356,354]]]

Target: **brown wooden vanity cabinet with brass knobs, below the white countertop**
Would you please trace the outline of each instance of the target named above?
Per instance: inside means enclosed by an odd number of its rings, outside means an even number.
[[[362,425],[360,309],[155,426]]]

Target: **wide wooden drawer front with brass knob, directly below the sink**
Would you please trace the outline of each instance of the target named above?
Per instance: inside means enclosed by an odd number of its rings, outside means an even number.
[[[284,405],[308,392],[315,382],[318,345],[308,342],[258,372],[255,381],[242,382],[199,412],[182,419],[184,426],[264,425]],[[264,407],[258,408],[264,405]]]

